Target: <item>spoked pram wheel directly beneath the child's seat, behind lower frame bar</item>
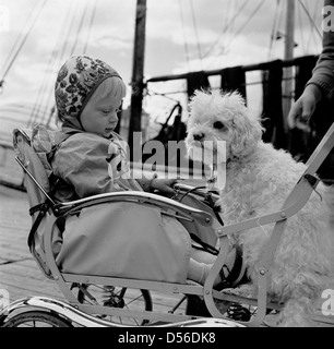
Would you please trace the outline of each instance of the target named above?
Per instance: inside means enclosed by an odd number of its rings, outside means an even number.
[[[130,289],[127,287],[79,285],[77,300],[80,303],[98,304],[132,311],[152,311],[153,303],[148,290]],[[143,326],[148,320],[124,316],[103,315],[104,320],[122,325]]]

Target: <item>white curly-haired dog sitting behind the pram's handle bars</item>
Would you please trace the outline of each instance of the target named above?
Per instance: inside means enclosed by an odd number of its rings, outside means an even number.
[[[218,202],[225,225],[281,210],[306,170],[306,165],[296,163],[289,153],[263,143],[262,132],[259,118],[251,115],[236,92],[196,91],[190,101],[186,139],[189,157],[202,160],[196,158],[201,152],[194,149],[210,144],[205,141],[226,142],[227,161],[218,165],[226,166],[226,185]],[[205,158],[211,159],[210,156]],[[334,228],[330,210],[334,195],[323,183],[318,184],[317,192],[313,191],[307,204],[287,220],[269,273],[270,296],[285,303],[279,314],[281,326],[312,326],[314,300],[331,281],[330,274],[334,269]],[[259,226],[234,237],[243,248],[248,276],[253,285],[258,279],[257,264],[273,227]]]

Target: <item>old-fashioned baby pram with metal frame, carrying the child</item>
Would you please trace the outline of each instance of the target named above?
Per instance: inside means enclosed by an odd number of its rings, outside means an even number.
[[[223,306],[224,311],[222,311],[222,304],[226,302],[248,304],[255,310],[253,316],[248,322],[239,321],[238,323],[259,326],[269,311],[279,310],[283,305],[267,297],[267,270],[271,267],[279,237],[284,232],[286,220],[305,205],[317,186],[318,179],[314,173],[334,145],[334,125],[309,159],[307,171],[279,212],[225,227],[219,224],[214,210],[207,205],[207,198],[213,200],[213,196],[201,190],[193,190],[187,195],[192,206],[143,192],[108,193],[75,202],[56,203],[52,198],[48,176],[31,146],[29,135],[24,130],[16,130],[14,142],[21,154],[17,161],[25,171],[25,185],[33,217],[28,245],[43,273],[55,280],[69,302],[65,305],[67,314],[62,314],[60,318],[62,325],[71,325],[73,318],[77,317],[85,318],[91,324],[102,325],[115,325],[117,323],[115,318],[121,318],[122,322],[124,318],[135,320],[135,323],[140,325],[155,323],[176,325],[198,317],[187,313],[177,314],[175,310],[179,304],[176,304],[168,313],[156,312],[151,298],[151,292],[154,291],[181,293],[186,294],[186,299],[189,296],[201,297],[205,302],[208,316],[222,320],[226,318],[226,308]],[[178,191],[181,197],[186,197],[189,188],[179,185]],[[127,215],[129,212],[131,214]],[[130,217],[133,219],[129,219]],[[144,217],[150,217],[145,222],[148,225],[150,232],[145,238],[139,239],[136,236],[139,225],[135,222],[142,222]],[[167,219],[165,222],[167,226],[170,225],[171,229],[157,229],[158,231],[154,229],[152,233],[153,227],[157,228],[159,225],[162,227],[164,222],[162,217]],[[119,228],[119,230],[114,230],[116,232],[112,232],[112,239],[108,236],[110,226],[107,226],[108,233],[106,233],[106,225],[103,221],[112,222],[112,228],[115,222],[115,226]],[[261,225],[275,222],[275,227],[259,267],[258,297],[250,299],[215,290],[214,280],[224,265],[229,249],[228,236],[259,226],[259,222]],[[163,224],[164,228],[166,225]],[[98,229],[95,229],[96,227]],[[187,229],[181,229],[184,227]],[[99,233],[95,240],[88,237],[92,229]],[[124,231],[129,232],[127,239],[123,237]],[[217,260],[204,286],[189,282],[186,278],[191,244],[187,231],[200,238],[204,245],[215,245],[216,240],[219,240]],[[147,233],[145,228],[141,230],[142,232]],[[127,245],[123,244],[124,241],[128,242]],[[129,242],[135,243],[129,248],[131,244]],[[147,242],[150,242],[148,245]],[[75,248],[79,248],[79,252],[75,251]],[[109,254],[112,256],[109,265],[98,263],[98,261],[102,262],[102,255],[104,255],[98,248],[106,248],[107,252],[112,251]],[[129,250],[123,254],[122,248]],[[165,251],[162,251],[164,249]],[[139,260],[136,258],[138,250]],[[94,251],[92,256],[87,254],[87,251]],[[152,254],[147,256],[151,252]],[[141,258],[142,254],[145,257]],[[162,258],[159,254],[163,254]],[[150,263],[146,263],[146,256]],[[134,264],[138,261],[144,263],[145,267],[143,268],[143,265],[138,263],[140,267],[135,268]],[[166,261],[168,264],[165,264]],[[102,288],[103,292],[109,291],[107,301],[98,301],[95,292],[92,291],[95,286],[97,289]],[[129,289],[138,290],[143,299],[142,309],[132,310],[127,306],[124,294]],[[26,316],[32,308],[37,308],[44,316],[45,310],[49,310],[50,316],[56,316],[55,313],[61,312],[61,308],[64,309],[64,305],[58,301],[45,298],[33,298],[25,300],[24,303],[19,301],[10,306],[10,310],[5,310],[5,315],[4,312],[1,314],[1,321],[4,324],[20,323],[20,316],[21,318]],[[22,311],[24,306],[25,315],[14,313],[17,308]]]

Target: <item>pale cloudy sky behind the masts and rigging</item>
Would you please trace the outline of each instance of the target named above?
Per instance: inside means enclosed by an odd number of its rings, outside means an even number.
[[[286,2],[147,0],[145,79],[283,59]],[[320,53],[322,4],[323,0],[296,0],[295,57]],[[130,83],[135,7],[136,0],[0,0],[0,79],[5,75],[0,118],[15,109],[27,120],[33,106],[48,113],[58,69],[84,49]],[[273,33],[283,36],[272,40]],[[153,95],[182,91],[182,84],[148,88]],[[130,89],[128,95],[129,103]],[[152,113],[172,104],[165,97],[144,99]]]

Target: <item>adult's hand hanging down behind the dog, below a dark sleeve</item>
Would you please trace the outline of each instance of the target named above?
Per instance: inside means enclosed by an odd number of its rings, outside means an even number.
[[[321,99],[321,91],[314,84],[308,85],[302,95],[293,105],[287,117],[290,129],[308,130],[308,122],[315,110],[317,103]]]

